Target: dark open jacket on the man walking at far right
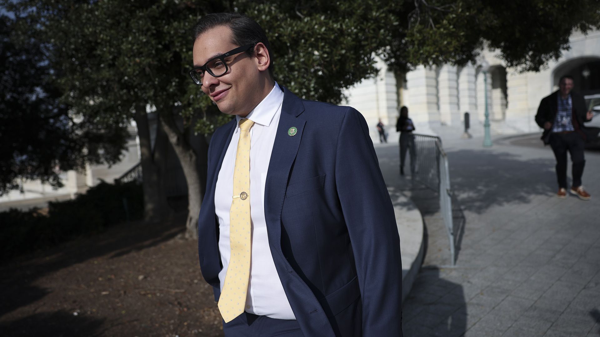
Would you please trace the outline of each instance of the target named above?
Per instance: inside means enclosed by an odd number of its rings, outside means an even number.
[[[538,113],[535,115],[535,122],[539,125],[540,128],[544,128],[545,122],[550,122],[554,124],[554,119],[556,119],[556,113],[558,112],[558,95],[559,91],[555,91],[547,97],[542,98],[542,101],[539,103]],[[571,101],[573,103],[573,116],[577,120],[577,124],[579,126],[578,133],[583,137],[583,139],[591,139],[589,137],[584,122],[589,122],[591,119],[586,119],[586,101],[583,98],[583,95],[578,94],[577,92],[571,92]],[[575,127],[575,121],[573,123]],[[548,144],[550,140],[550,130],[544,130],[542,134],[542,140],[544,140],[544,144]]]

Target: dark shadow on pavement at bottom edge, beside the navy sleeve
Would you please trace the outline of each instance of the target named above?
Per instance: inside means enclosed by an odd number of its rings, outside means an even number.
[[[440,278],[440,269],[424,267],[403,304],[405,336],[461,336],[467,329],[463,287]]]

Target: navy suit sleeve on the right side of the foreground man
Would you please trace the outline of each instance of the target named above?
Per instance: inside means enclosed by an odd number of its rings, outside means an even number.
[[[363,336],[401,336],[402,266],[394,207],[367,123],[352,108],[338,135],[335,183],[355,255]]]

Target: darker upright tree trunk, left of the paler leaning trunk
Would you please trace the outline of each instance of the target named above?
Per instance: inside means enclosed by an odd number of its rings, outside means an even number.
[[[140,138],[140,163],[142,164],[142,188],[144,191],[144,218],[161,219],[168,207],[167,199],[160,188],[158,167],[152,156],[150,128],[146,107],[136,106],[134,120],[137,124],[137,136]]]

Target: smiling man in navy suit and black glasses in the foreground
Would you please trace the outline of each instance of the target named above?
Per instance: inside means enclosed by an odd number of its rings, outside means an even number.
[[[236,13],[194,26],[190,76],[235,116],[212,136],[198,221],[224,333],[402,336],[400,240],[367,124],[278,85],[269,48]]]

